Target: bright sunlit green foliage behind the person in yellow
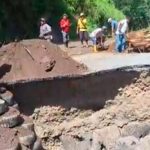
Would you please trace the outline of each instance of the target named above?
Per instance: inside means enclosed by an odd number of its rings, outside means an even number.
[[[113,17],[120,20],[123,13],[115,8],[111,0],[65,0],[73,15],[84,12],[89,20],[89,31],[96,26],[102,26],[107,19]]]

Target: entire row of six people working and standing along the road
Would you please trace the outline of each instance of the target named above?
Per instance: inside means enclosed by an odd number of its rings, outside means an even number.
[[[127,38],[127,31],[128,31],[128,23],[129,18],[126,17],[126,19],[123,19],[119,22],[116,20],[109,18],[108,23],[111,25],[111,35],[115,38],[115,50],[117,52],[123,52],[126,49],[126,38]],[[62,38],[63,43],[66,48],[69,47],[69,33],[71,30],[71,21],[68,18],[67,14],[64,14],[62,19],[59,22],[59,26],[62,32]],[[87,19],[84,15],[84,13],[81,13],[78,20],[77,20],[77,30],[76,33],[79,36],[79,39],[81,41],[82,47],[89,47],[89,39],[93,43],[93,51],[97,52],[98,46],[104,47],[105,37],[106,37],[106,30],[107,27],[99,27],[97,29],[94,29],[90,34],[88,33],[88,27],[87,27]],[[52,29],[51,26],[49,26],[46,23],[46,20],[44,18],[41,18],[41,26],[40,26],[40,38],[46,39],[48,41],[51,41],[53,39],[52,36]]]

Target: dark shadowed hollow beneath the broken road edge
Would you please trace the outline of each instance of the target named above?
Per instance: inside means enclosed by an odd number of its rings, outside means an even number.
[[[98,110],[107,100],[113,100],[118,90],[139,78],[136,71],[110,71],[76,78],[32,81],[9,85],[26,115],[36,107],[63,106]]]

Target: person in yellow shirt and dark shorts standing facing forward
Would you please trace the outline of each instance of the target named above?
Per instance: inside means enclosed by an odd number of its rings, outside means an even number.
[[[80,41],[82,46],[84,47],[84,41],[85,41],[85,46],[88,47],[88,32],[87,32],[87,19],[85,18],[84,13],[80,14],[80,18],[78,19],[77,23],[77,34],[80,37]]]

